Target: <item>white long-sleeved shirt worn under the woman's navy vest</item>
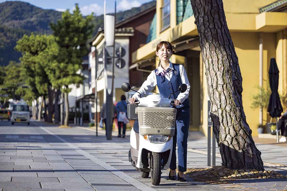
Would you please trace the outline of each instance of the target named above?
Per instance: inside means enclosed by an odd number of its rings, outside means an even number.
[[[164,77],[167,80],[170,80],[172,77],[172,73],[173,73],[173,67],[172,67],[172,63],[169,62],[169,67],[171,70],[169,70],[168,73],[164,73]],[[162,72],[164,69],[161,67],[161,65],[158,67],[158,72]],[[185,68],[183,67],[183,65],[179,64],[179,74],[181,76],[181,81],[183,84],[187,85],[187,90],[183,93],[179,93],[178,97],[176,98],[177,100],[181,101],[181,103],[183,103],[185,101],[185,99],[188,98],[189,95],[189,89],[190,89],[190,85],[189,85],[189,81],[187,78],[187,74],[185,72]],[[146,97],[156,86],[156,72],[154,72],[154,70],[150,73],[150,75],[148,76],[147,80],[144,81],[144,83],[141,85],[141,88],[138,90],[138,92],[141,94],[141,97]],[[133,95],[134,98],[139,98],[139,93],[135,93]]]

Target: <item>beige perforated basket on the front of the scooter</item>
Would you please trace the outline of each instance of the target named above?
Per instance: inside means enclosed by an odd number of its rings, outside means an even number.
[[[177,110],[169,107],[137,107],[141,135],[174,135]]]

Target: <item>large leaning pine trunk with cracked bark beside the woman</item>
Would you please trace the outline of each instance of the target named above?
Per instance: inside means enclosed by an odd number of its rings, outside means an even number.
[[[263,170],[242,105],[242,76],[222,0],[191,0],[205,63],[214,134],[227,168]]]

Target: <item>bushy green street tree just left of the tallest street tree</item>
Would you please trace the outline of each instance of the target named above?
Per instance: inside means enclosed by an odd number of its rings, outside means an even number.
[[[49,67],[49,59],[47,58],[48,51],[46,50],[49,50],[53,39],[51,35],[24,35],[23,38],[18,40],[15,47],[15,50],[22,52],[22,58],[20,58],[24,68],[22,74],[25,76],[26,83],[30,86],[31,90],[33,90],[33,94],[31,95],[41,96],[41,101],[43,101],[44,96],[46,96],[51,89],[51,83],[45,68]],[[53,100],[49,100],[49,103],[53,103]],[[42,103],[39,108],[38,120],[40,120],[41,117],[41,106]],[[53,111],[49,110],[50,122],[52,122],[52,114]]]

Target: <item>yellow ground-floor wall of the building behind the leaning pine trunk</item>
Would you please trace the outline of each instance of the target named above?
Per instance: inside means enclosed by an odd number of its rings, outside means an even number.
[[[257,125],[259,123],[259,109],[251,109],[252,95],[258,90],[259,85],[259,33],[243,33],[231,32],[230,33],[235,51],[238,56],[238,62],[243,78],[242,86],[242,100],[243,108],[246,115],[247,123],[252,129],[252,135],[257,136]],[[270,59],[276,57],[276,34],[264,33],[263,34],[263,87],[269,86],[268,70]],[[207,135],[207,84],[205,76],[205,66],[201,62],[200,80],[202,84],[202,125],[200,130]],[[267,111],[263,111],[263,125],[269,122]]]

